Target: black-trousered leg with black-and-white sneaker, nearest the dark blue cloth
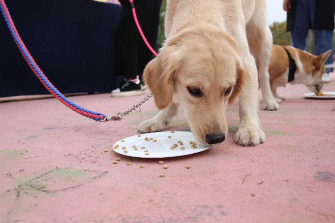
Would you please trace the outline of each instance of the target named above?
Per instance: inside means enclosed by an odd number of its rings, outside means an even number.
[[[125,76],[112,97],[140,95],[141,86],[137,77],[137,38],[139,33],[134,23],[129,1],[121,0],[122,10],[114,34],[114,75]]]

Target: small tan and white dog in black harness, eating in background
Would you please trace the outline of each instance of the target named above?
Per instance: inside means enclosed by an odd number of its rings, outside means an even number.
[[[287,83],[304,84],[310,91],[319,92],[323,87],[321,76],[325,73],[325,62],[331,52],[330,49],[316,56],[292,46],[273,45],[269,74],[271,90],[276,101],[281,103],[282,100],[285,100],[284,97],[277,94],[276,89],[285,87]],[[292,58],[292,63],[295,64],[295,69],[291,71],[294,79],[288,82],[289,56]]]

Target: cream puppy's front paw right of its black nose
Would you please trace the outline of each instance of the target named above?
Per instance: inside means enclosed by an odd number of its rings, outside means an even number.
[[[244,146],[255,146],[266,141],[265,134],[258,125],[240,127],[234,139],[237,144]]]

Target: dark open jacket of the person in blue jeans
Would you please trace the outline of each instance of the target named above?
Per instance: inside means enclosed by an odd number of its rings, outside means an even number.
[[[296,0],[291,0],[291,9],[287,13],[287,31],[292,31],[294,27],[294,15]],[[310,29],[334,30],[335,0],[316,0],[314,26],[310,23]]]

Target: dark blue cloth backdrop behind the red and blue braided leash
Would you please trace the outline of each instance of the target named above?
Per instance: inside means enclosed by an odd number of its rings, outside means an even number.
[[[117,87],[112,73],[119,5],[85,0],[5,2],[27,49],[58,90],[91,93]],[[48,94],[22,58],[2,15],[0,76],[0,97]]]

